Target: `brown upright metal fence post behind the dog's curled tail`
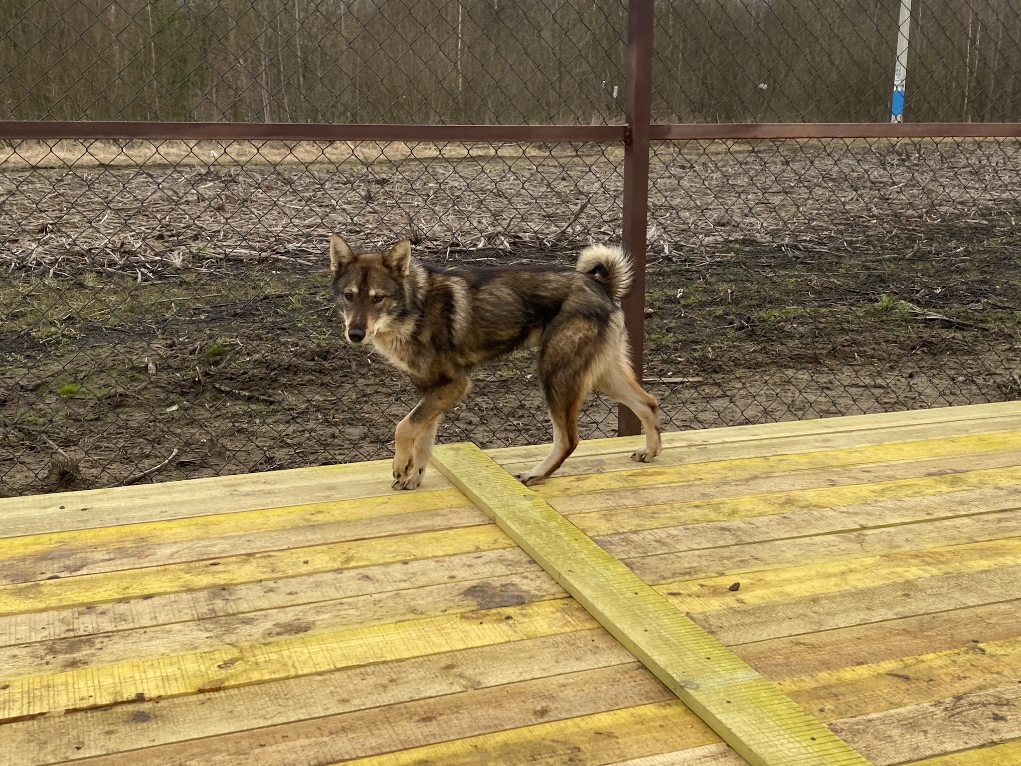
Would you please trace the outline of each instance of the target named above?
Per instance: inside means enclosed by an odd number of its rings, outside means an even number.
[[[648,222],[648,132],[652,96],[652,0],[628,3],[628,81],[624,113],[624,250],[634,262],[635,282],[624,299],[624,323],[631,341],[631,365],[642,378],[645,325],[645,235]],[[638,417],[617,409],[617,433],[641,433]]]

